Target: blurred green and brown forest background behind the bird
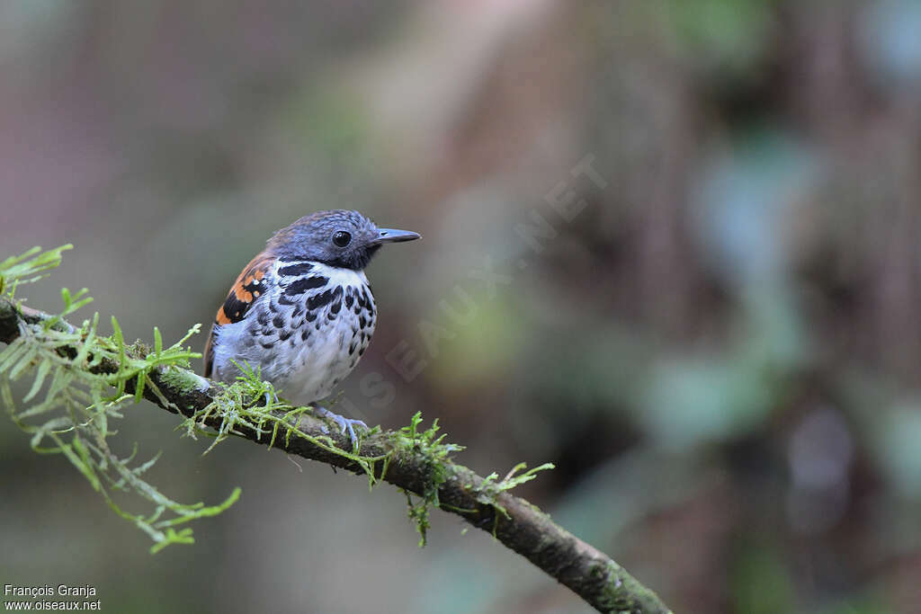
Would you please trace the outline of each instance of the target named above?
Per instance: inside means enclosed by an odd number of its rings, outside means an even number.
[[[87,286],[175,340],[300,215],[419,231],[368,271],[370,421],[438,418],[480,473],[553,461],[521,493],[676,612],[918,612],[919,32],[913,0],[4,2],[0,257],[73,242],[30,305]],[[388,486],[177,423],[126,416],[151,481],[243,496],[156,556],[0,429],[0,580],[109,612],[587,609],[453,516],[419,550]]]

